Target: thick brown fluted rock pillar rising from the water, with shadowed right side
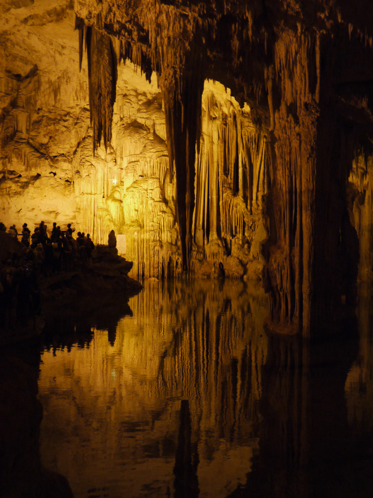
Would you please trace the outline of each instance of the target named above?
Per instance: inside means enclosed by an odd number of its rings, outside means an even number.
[[[304,337],[317,334],[341,303],[341,261],[355,258],[342,247],[343,234],[353,239],[353,233],[345,217],[348,159],[330,92],[329,46],[316,32],[283,30],[267,81],[273,183],[265,285],[271,326]]]

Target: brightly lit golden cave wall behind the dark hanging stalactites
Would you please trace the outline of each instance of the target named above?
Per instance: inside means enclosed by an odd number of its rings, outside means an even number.
[[[176,274],[182,268],[176,178],[159,82],[120,62],[110,140],[103,126],[95,148],[99,119],[90,111],[89,67],[86,57],[80,59],[74,26],[68,2],[4,12],[0,219],[19,231],[24,222],[32,229],[41,220],[49,229],[70,222],[99,244],[114,229],[126,235],[134,275]],[[25,38],[32,41],[27,47]],[[192,271],[211,276],[222,261],[227,276],[259,278],[266,134],[253,124],[249,106],[241,108],[216,82],[205,81],[201,102]]]

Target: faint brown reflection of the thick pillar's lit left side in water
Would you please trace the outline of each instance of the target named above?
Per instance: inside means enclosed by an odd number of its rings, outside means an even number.
[[[309,448],[309,360],[302,354],[299,338],[273,335],[268,346],[262,369],[259,454],[248,475],[247,488],[255,496],[306,498],[302,466],[308,463]]]

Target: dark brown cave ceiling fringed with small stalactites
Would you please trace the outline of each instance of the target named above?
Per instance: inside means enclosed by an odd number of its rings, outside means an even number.
[[[330,40],[328,63],[337,93],[373,77],[369,1],[356,8],[344,0],[76,1],[75,11],[86,25],[119,39],[119,57],[133,59],[147,77],[155,71],[161,86],[162,79],[191,70],[188,58],[199,51],[204,77],[230,88],[241,104],[261,106],[267,123],[268,68],[275,65],[281,77],[276,43],[290,32]]]

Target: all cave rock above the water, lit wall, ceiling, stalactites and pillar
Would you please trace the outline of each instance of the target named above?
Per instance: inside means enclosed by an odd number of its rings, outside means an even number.
[[[359,254],[371,274],[368,0],[2,9],[4,221],[125,234],[140,276],[263,270],[279,331],[309,337],[354,302]]]

